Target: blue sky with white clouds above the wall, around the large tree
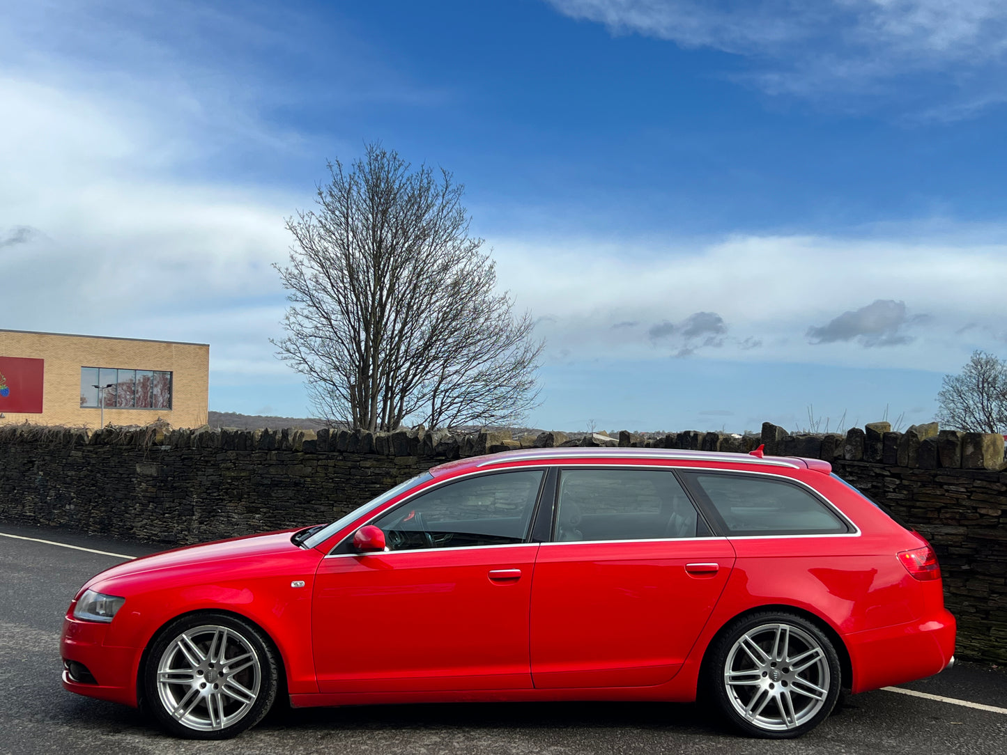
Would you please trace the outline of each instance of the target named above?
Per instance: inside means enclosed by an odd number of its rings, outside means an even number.
[[[536,427],[908,425],[1007,354],[996,0],[0,8],[0,327],[208,342],[210,409],[308,412],[271,264],[373,140],[465,184]]]

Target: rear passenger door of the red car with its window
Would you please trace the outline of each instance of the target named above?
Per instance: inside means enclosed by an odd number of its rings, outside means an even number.
[[[734,550],[669,469],[565,468],[532,587],[536,688],[644,687],[678,671]]]

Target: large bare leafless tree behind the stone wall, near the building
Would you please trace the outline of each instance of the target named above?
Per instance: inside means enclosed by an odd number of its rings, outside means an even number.
[[[273,343],[316,412],[366,430],[519,421],[536,405],[544,344],[494,292],[464,187],[378,144],[328,170],[317,208],[287,219],[290,266],[274,266],[291,306]]]

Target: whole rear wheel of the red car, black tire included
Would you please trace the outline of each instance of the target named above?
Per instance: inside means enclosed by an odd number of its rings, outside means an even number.
[[[775,611],[744,616],[711,647],[703,680],[721,714],[750,737],[794,739],[836,705],[836,648],[811,621]]]

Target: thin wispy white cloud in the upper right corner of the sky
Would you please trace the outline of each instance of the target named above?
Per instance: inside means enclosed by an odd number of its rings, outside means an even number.
[[[749,58],[747,79],[770,94],[835,104],[877,97],[911,103],[905,78],[939,73],[956,94],[917,118],[954,120],[1007,99],[1002,0],[548,0],[573,18],[683,47]],[[996,72],[999,71],[999,76]],[[991,72],[993,74],[991,76]]]

